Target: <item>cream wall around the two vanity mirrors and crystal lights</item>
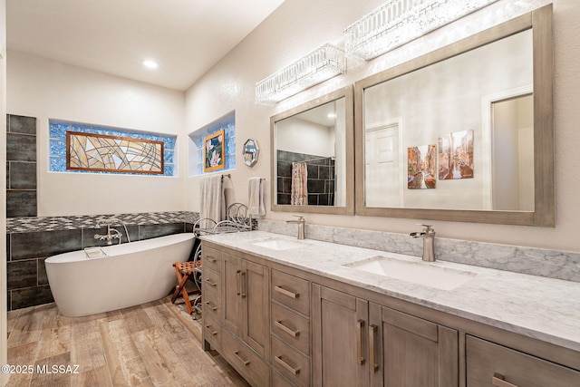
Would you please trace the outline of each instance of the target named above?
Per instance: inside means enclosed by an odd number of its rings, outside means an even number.
[[[379,58],[351,66],[349,71],[328,82],[314,86],[275,106],[256,105],[255,84],[283,68],[320,44],[343,40],[343,29],[367,14],[383,0],[286,0],[273,15],[238,44],[186,93],[186,127],[189,131],[215,120],[227,111],[236,110],[237,139],[248,137],[260,144],[261,159],[253,169],[242,164],[237,151],[237,169],[231,172],[237,198],[247,201],[247,179],[252,176],[270,178],[269,117],[327,92],[353,84],[373,73],[403,63],[422,53],[475,34],[492,25],[524,14],[548,3],[554,4],[555,24],[555,123],[556,123],[556,227],[514,227],[485,224],[433,221],[440,237],[522,245],[530,247],[580,250],[575,236],[580,208],[576,204],[580,192],[580,175],[575,173],[580,134],[577,127],[577,105],[580,103],[580,3],[572,0],[499,0],[483,10],[468,15],[458,23],[405,44]],[[353,63],[349,63],[352,65]],[[188,179],[187,209],[197,210],[198,179]],[[269,195],[269,191],[266,192]],[[266,208],[269,209],[269,198]],[[285,213],[268,210],[266,218],[286,219]],[[408,233],[418,229],[420,219],[343,217],[308,214],[309,224],[358,227]]]

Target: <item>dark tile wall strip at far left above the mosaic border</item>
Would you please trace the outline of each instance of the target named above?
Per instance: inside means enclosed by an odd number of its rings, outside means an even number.
[[[36,216],[36,119],[6,114],[6,218]]]

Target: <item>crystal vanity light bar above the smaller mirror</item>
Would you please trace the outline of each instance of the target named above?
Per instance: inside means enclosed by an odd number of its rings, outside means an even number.
[[[256,83],[256,103],[273,104],[346,72],[343,49],[324,44]]]

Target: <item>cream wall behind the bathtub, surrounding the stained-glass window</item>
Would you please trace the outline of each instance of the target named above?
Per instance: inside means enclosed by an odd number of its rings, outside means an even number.
[[[175,178],[49,172],[48,120],[179,134],[185,165],[184,101],[183,92],[8,52],[7,112],[37,118],[38,216],[182,210],[185,167]]]

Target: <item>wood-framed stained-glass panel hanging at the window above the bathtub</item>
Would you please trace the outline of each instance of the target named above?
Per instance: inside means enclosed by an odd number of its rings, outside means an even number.
[[[66,132],[66,169],[163,174],[163,141]]]

